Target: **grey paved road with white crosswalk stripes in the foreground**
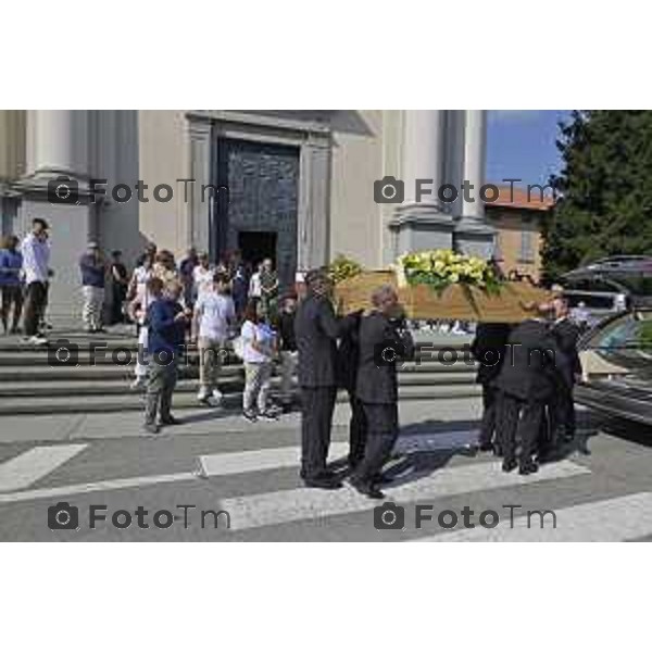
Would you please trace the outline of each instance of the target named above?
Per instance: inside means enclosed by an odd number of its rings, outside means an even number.
[[[139,415],[133,414],[49,422],[2,418],[0,540],[652,538],[651,431],[607,430],[582,413],[591,454],[568,450],[539,474],[521,477],[502,473],[491,456],[469,451],[477,402],[438,403],[437,410],[432,414],[432,406],[421,402],[402,406],[404,429],[390,469],[394,481],[386,493],[403,509],[404,523],[400,510],[383,511],[376,517],[383,515],[387,523],[396,517],[394,524],[403,527],[380,530],[374,526],[374,507],[381,503],[350,488],[325,492],[301,486],[296,415],[252,426],[235,416],[195,411],[184,415],[186,425],[156,438],[143,437]],[[331,451],[336,464],[347,451],[347,417],[339,406]],[[78,510],[78,529],[48,527],[48,510],[60,501]],[[89,527],[91,511],[98,517],[95,528]],[[541,517],[544,511],[554,516]],[[115,527],[113,517],[118,525],[131,524]],[[440,517],[449,526],[456,518],[457,527],[442,527]],[[65,522],[66,514],[59,518]],[[465,522],[476,527],[464,527]]]

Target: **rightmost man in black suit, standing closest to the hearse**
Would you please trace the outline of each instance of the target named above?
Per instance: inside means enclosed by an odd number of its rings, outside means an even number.
[[[573,441],[575,438],[575,403],[573,390],[576,379],[581,376],[581,362],[577,351],[577,340],[580,328],[568,317],[568,302],[563,297],[553,300],[555,321],[551,331],[557,346],[566,356],[569,369],[561,376],[562,383],[553,396],[550,404],[550,421],[553,438]]]

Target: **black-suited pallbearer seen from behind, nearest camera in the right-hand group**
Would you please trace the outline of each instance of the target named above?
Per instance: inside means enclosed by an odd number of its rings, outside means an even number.
[[[496,386],[501,393],[500,437],[503,444],[503,471],[516,468],[516,440],[521,442],[518,473],[538,471],[534,461],[539,434],[559,374],[567,366],[547,318],[552,306],[530,306],[537,316],[516,326],[509,339],[505,360]]]

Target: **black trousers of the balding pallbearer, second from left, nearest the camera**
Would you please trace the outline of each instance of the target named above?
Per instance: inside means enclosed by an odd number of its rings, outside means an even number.
[[[363,403],[368,434],[364,457],[352,478],[372,485],[380,475],[399,437],[399,406],[397,403]]]

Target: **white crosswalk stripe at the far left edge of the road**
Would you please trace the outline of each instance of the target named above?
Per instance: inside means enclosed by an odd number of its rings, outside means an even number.
[[[38,446],[0,464],[0,491],[16,491],[29,487],[80,453],[87,446],[87,443]]]

